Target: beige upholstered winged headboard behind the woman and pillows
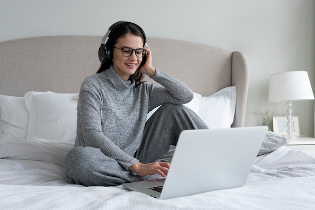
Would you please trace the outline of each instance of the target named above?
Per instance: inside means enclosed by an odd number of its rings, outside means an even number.
[[[0,43],[0,94],[28,91],[77,93],[84,78],[100,66],[101,36],[46,36]],[[203,96],[237,87],[232,127],[245,124],[248,65],[238,52],[180,40],[147,38],[156,68],[185,82]],[[151,82],[145,78],[147,82]]]

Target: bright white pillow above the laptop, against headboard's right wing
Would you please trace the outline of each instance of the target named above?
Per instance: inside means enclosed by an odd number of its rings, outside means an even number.
[[[223,88],[211,96],[195,99],[195,102],[200,101],[196,113],[209,128],[230,127],[234,120],[236,99],[234,86]]]

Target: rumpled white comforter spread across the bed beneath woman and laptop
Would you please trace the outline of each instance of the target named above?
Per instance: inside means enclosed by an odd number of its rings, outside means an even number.
[[[243,187],[159,200],[116,187],[66,180],[72,143],[0,141],[1,209],[314,209],[315,157],[280,148],[258,156]],[[41,186],[38,186],[41,185]]]

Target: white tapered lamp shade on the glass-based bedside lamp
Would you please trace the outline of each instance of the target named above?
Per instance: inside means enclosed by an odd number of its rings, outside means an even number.
[[[313,100],[308,74],[304,71],[282,72],[270,76],[269,102]]]

